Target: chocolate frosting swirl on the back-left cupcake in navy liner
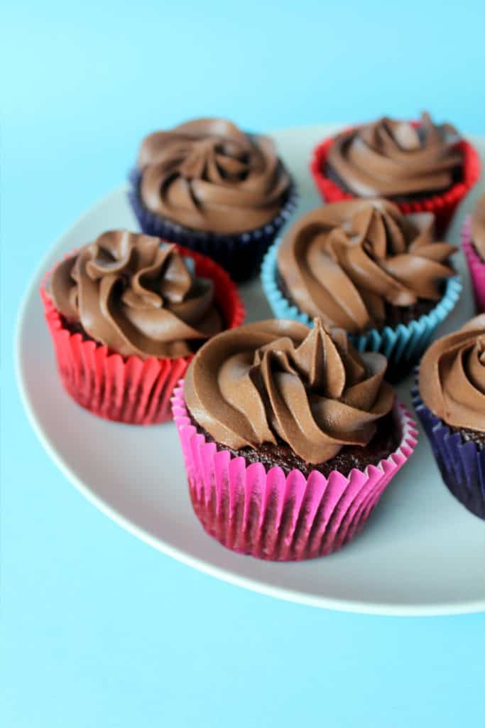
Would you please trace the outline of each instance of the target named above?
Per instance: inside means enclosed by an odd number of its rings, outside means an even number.
[[[273,141],[245,134],[224,119],[195,119],[149,135],[138,167],[148,210],[221,234],[268,223],[291,186]]]

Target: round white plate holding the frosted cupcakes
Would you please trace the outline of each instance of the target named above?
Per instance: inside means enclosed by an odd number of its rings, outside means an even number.
[[[299,212],[318,205],[308,161],[314,144],[331,131],[304,127],[274,135],[300,188]],[[484,152],[485,140],[475,141]],[[477,194],[474,191],[460,210],[452,240],[458,240],[458,224]],[[195,569],[271,596],[375,614],[484,610],[485,523],[446,490],[424,435],[355,541],[326,558],[268,563],[231,553],[201,529],[189,502],[173,424],[113,424],[73,403],[57,378],[39,284],[63,253],[113,227],[137,229],[124,187],[92,207],[49,251],[28,288],[17,325],[17,378],[25,409],[66,478],[103,513],[153,547]],[[465,272],[461,254],[457,257]],[[248,320],[270,317],[259,282],[246,285],[242,293]],[[457,328],[472,312],[465,274],[460,304],[442,333]],[[399,387],[408,402],[409,387],[409,381]]]

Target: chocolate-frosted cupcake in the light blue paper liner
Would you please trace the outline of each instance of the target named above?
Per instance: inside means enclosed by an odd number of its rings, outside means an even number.
[[[273,313],[344,328],[360,352],[388,358],[388,379],[412,370],[461,284],[436,242],[431,213],[403,215],[384,199],[334,202],[303,215],[273,245],[262,285]]]

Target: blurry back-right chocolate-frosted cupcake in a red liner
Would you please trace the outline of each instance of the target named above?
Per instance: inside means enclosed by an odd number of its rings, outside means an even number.
[[[480,158],[450,124],[383,116],[326,139],[311,162],[326,202],[385,197],[403,213],[432,212],[443,234],[454,210],[480,176]]]

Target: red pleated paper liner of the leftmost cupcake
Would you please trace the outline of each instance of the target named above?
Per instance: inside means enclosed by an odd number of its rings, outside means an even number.
[[[215,283],[215,301],[227,322],[235,328],[244,320],[244,306],[228,274],[210,258],[180,248],[193,258],[196,272]],[[171,419],[170,397],[184,376],[193,355],[175,359],[143,360],[121,357],[108,347],[71,333],[41,285],[44,315],[54,343],[57,369],[65,390],[93,414],[127,424],[158,424]]]

